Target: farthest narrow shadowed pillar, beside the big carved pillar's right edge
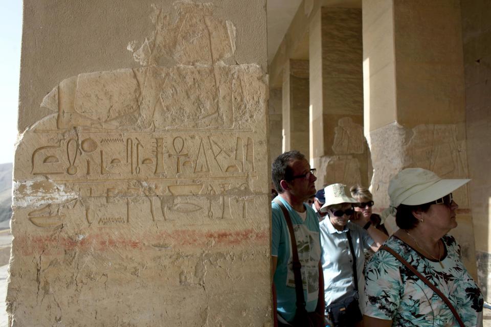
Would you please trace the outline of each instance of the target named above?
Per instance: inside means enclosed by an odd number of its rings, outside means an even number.
[[[281,88],[270,89],[269,108],[269,132],[270,132],[270,162],[282,153],[282,107],[281,107]]]

